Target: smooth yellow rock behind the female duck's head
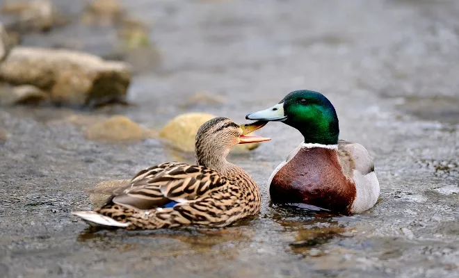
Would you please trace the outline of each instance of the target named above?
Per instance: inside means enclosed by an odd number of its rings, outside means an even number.
[[[204,122],[213,119],[214,115],[206,113],[186,113],[175,117],[159,132],[159,137],[167,145],[182,152],[194,152],[195,137]],[[255,134],[255,133],[254,133]],[[246,153],[256,149],[259,143],[236,145],[232,153]]]

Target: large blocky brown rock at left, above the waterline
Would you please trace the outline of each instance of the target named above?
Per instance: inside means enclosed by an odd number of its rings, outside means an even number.
[[[123,101],[131,79],[126,63],[64,49],[15,47],[0,65],[0,80],[34,85],[53,104],[86,106]]]

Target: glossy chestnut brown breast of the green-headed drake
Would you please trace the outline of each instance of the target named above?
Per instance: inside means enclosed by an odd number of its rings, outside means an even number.
[[[303,148],[273,177],[269,188],[275,203],[305,203],[349,213],[355,185],[338,162],[337,151]]]

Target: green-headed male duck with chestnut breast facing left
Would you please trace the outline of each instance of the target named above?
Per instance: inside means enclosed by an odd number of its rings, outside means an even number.
[[[338,213],[360,213],[376,204],[379,183],[362,145],[338,140],[335,108],[319,92],[298,90],[248,120],[280,121],[298,129],[305,141],[269,179],[271,200],[304,203]]]

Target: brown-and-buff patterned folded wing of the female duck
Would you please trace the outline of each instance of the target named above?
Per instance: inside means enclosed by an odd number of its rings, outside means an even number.
[[[140,172],[132,180],[132,187],[113,197],[113,202],[127,207],[152,209],[171,201],[195,199],[226,182],[218,172],[204,166],[178,163],[161,172],[156,172],[156,169],[153,175]]]

